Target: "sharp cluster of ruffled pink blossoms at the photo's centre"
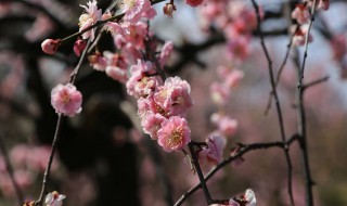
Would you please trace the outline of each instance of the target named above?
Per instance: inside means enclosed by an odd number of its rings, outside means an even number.
[[[155,75],[151,62],[131,67],[127,91],[138,98],[138,114],[143,131],[157,140],[166,152],[182,150],[190,141],[190,128],[185,120],[193,105],[190,85],[179,77],[163,81]]]

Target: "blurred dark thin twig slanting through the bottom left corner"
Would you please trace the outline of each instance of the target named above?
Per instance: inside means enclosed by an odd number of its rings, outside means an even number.
[[[4,136],[2,134],[2,132],[0,132],[0,151],[2,153],[2,156],[3,156],[3,160],[4,160],[4,164],[5,164],[5,169],[10,176],[10,180],[12,182],[12,185],[14,188],[14,191],[15,191],[15,194],[17,196],[17,202],[18,202],[18,205],[22,205],[23,202],[24,202],[24,195],[23,195],[23,192],[18,185],[18,183],[16,182],[15,178],[14,178],[14,170],[13,170],[13,167],[12,167],[12,164],[10,162],[10,158],[9,158],[9,153],[4,146],[4,143],[2,141],[2,139],[4,138]]]

